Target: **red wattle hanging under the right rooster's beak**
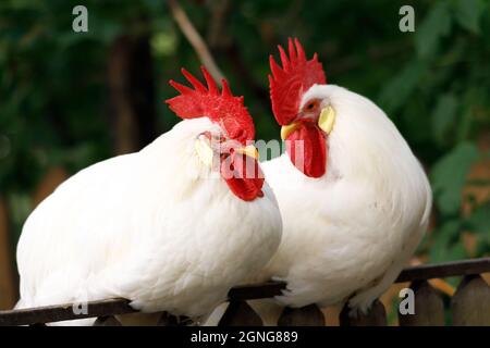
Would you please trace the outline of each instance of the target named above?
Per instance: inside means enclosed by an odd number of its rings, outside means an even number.
[[[291,162],[306,176],[321,177],[327,172],[324,137],[316,124],[303,123],[286,140]]]

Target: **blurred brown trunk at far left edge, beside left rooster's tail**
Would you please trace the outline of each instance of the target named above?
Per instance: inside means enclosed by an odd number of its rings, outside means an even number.
[[[14,260],[10,240],[7,206],[0,197],[0,310],[12,309],[17,299]]]

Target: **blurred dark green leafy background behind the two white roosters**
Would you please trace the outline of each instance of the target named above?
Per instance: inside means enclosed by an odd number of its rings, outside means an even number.
[[[429,173],[432,224],[416,262],[490,253],[489,1],[180,3],[234,92],[245,96],[258,138],[279,135],[267,96],[268,55],[289,36],[298,37],[319,53],[330,83],[390,115]],[[399,9],[407,3],[415,9],[415,33],[399,30]],[[76,4],[88,9],[88,33],[72,30]],[[53,186],[145,144],[118,145],[132,129],[118,134],[122,116],[112,105],[118,100],[108,71],[124,38],[149,49],[136,71],[149,71],[150,94],[136,90],[130,98],[149,105],[135,122],[147,125],[142,139],[150,139],[179,121],[162,102],[174,95],[167,80],[182,79],[181,66],[197,72],[200,64],[166,1],[0,2],[0,206],[11,259],[23,222]]]

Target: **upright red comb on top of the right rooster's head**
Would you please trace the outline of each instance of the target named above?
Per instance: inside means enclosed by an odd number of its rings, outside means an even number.
[[[317,53],[309,61],[306,60],[305,51],[298,39],[287,39],[289,53],[278,46],[281,54],[282,67],[275,63],[270,55],[269,75],[270,99],[272,101],[272,111],[280,125],[290,124],[296,116],[299,108],[301,98],[309,87],[315,84],[326,84],[324,72],[321,63],[318,62]],[[294,47],[296,46],[296,48]]]

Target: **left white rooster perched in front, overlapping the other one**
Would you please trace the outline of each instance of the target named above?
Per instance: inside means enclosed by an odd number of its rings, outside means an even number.
[[[264,176],[241,175],[260,174],[243,97],[182,72],[194,89],[170,82],[181,95],[167,102],[184,121],[81,171],[27,219],[16,308],[122,297],[198,319],[270,260],[282,222]]]

